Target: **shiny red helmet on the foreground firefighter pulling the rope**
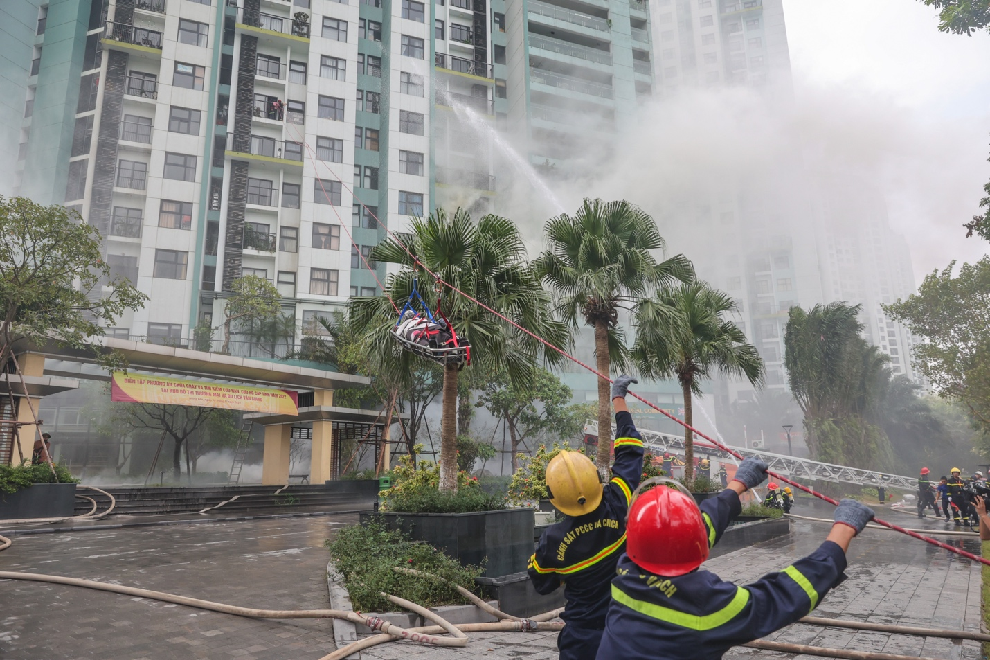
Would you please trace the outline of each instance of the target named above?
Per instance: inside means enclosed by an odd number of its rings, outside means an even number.
[[[694,497],[660,485],[638,496],[626,523],[626,553],[650,573],[690,573],[708,559],[708,533]]]

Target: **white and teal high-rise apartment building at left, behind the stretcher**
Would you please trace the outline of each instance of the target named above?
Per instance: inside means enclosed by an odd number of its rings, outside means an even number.
[[[464,108],[494,117],[489,10],[12,0],[2,191],[100,230],[114,275],[149,296],[111,334],[190,342],[258,275],[295,319],[291,343],[378,290],[385,270],[368,256],[385,226],[491,205],[488,134],[457,121]]]

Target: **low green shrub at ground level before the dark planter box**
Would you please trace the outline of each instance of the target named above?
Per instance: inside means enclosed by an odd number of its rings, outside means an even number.
[[[390,531],[378,522],[345,527],[324,545],[344,576],[350,603],[357,611],[399,608],[381,592],[425,607],[467,603],[451,585],[476,591],[474,578],[484,570],[482,566],[461,566],[440,550],[410,541],[402,532]],[[397,566],[432,573],[450,584],[396,573],[392,569]]]

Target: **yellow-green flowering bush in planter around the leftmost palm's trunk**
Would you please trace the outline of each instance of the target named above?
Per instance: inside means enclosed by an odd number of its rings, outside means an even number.
[[[416,454],[423,445],[413,448]],[[457,492],[440,492],[440,463],[413,462],[409,454],[399,459],[392,471],[392,488],[379,495],[384,500],[383,511],[407,513],[466,513],[505,508],[503,495],[489,495],[481,490],[478,478],[463,470],[457,471]]]

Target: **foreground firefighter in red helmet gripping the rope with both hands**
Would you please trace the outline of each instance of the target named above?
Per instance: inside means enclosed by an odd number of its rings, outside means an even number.
[[[743,462],[729,488],[700,508],[686,490],[664,485],[634,498],[598,660],[718,660],[805,616],[844,580],[849,541],[873,518],[852,499],[836,508],[818,550],[779,573],[738,587],[699,570],[739,515],[739,495],[759,485],[765,469]]]

